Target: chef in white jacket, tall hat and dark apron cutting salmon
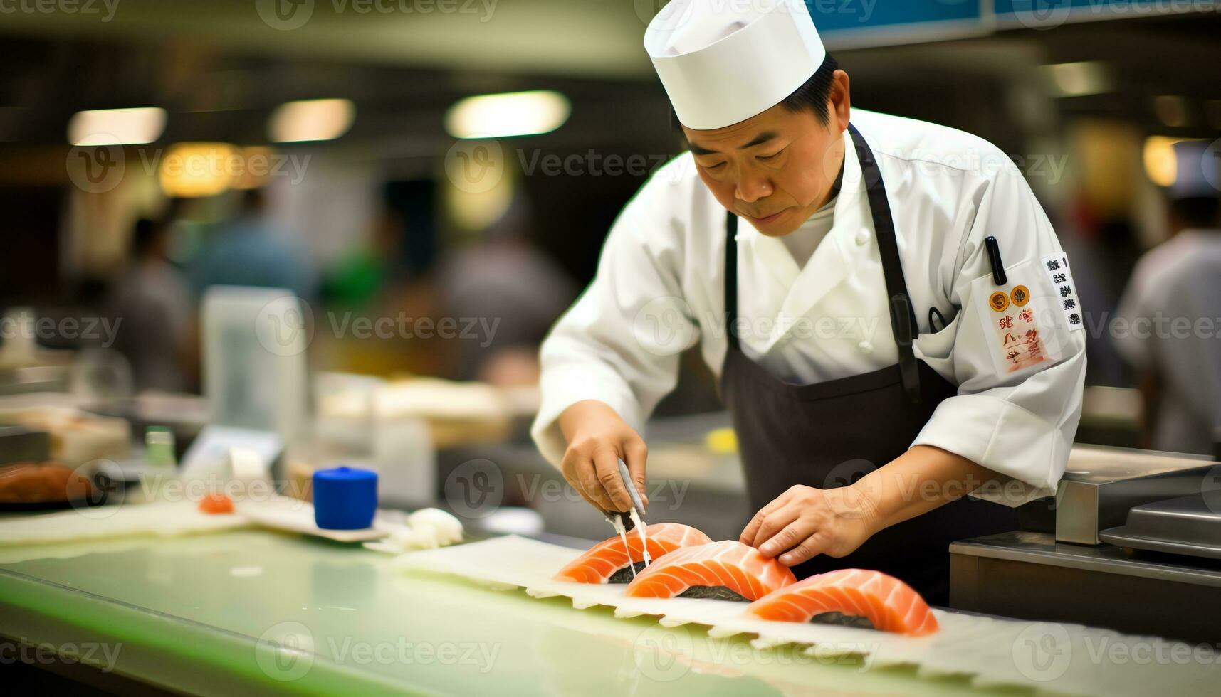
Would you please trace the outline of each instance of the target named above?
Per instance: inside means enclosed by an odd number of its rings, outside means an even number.
[[[538,448],[595,507],[628,510],[620,458],[647,500],[641,428],[698,343],[741,542],[946,603],[949,543],[1013,529],[1068,458],[1084,325],[1055,231],[995,146],[853,110],[801,0],[673,0],[645,48],[690,149],[543,343]]]

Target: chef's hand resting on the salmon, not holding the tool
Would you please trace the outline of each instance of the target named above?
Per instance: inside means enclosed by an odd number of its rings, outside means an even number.
[[[855,486],[794,486],[755,514],[739,538],[785,566],[817,554],[844,557],[875,532],[872,497]]]

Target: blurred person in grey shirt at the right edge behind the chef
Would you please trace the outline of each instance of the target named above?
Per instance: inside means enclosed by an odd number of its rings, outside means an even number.
[[[1175,144],[1171,237],[1137,262],[1116,345],[1138,375],[1148,446],[1212,454],[1221,444],[1221,205],[1204,175],[1216,166],[1206,145]]]

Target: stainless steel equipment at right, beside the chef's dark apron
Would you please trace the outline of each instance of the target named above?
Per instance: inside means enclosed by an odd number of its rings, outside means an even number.
[[[1219,475],[1206,457],[1074,447],[1055,535],[951,544],[950,605],[1221,642]]]

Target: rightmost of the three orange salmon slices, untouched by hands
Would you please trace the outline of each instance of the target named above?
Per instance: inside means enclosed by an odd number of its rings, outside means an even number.
[[[755,601],[746,612],[766,620],[827,621],[912,636],[937,631],[937,618],[919,593],[894,576],[866,569],[811,576]]]

